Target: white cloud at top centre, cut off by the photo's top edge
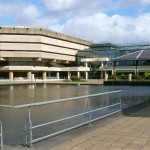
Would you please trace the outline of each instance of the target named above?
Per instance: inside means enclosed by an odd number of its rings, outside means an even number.
[[[112,0],[42,0],[48,11],[47,15],[57,18],[88,16],[102,11]]]

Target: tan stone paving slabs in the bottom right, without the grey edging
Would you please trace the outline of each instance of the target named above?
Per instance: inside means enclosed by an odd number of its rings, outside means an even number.
[[[150,150],[150,106],[49,150]]]

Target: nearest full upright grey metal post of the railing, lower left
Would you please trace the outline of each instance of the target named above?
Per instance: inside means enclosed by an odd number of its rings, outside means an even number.
[[[28,122],[29,122],[29,147],[32,148],[32,120],[31,120],[31,108],[28,107]]]

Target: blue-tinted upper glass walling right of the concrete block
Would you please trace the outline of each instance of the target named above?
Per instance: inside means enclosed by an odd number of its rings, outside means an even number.
[[[112,43],[97,43],[92,44],[89,49],[84,51],[79,51],[77,54],[77,63],[78,65],[83,65],[80,62],[81,58],[101,58],[107,57],[110,59],[127,55],[139,50],[150,50],[150,43],[139,43],[139,44],[125,44],[125,45],[116,45]],[[121,66],[135,66],[136,61],[122,61],[118,62],[118,65]],[[137,65],[150,65],[149,60],[138,61]],[[107,66],[113,66],[113,62],[108,62]]]

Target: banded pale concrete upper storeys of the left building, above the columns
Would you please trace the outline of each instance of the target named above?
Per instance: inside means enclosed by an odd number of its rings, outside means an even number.
[[[78,50],[92,42],[50,30],[22,27],[0,27],[0,57],[41,58],[75,61]]]

